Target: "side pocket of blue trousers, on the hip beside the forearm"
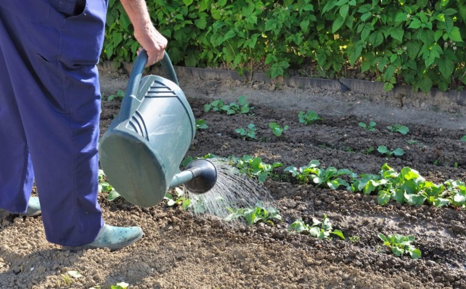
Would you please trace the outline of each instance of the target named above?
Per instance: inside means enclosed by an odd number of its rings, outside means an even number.
[[[79,15],[63,21],[58,60],[69,66],[95,65],[102,51],[106,0],[87,0]]]

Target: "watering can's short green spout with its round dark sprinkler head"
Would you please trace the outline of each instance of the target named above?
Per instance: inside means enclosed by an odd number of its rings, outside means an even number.
[[[217,168],[211,161],[199,159],[190,162],[186,170],[173,176],[169,188],[185,184],[188,191],[195,194],[204,194],[215,185],[217,181]]]

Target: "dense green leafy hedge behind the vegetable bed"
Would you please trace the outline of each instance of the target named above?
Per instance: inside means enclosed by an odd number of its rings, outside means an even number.
[[[428,0],[148,0],[151,18],[170,40],[175,64],[253,71],[264,62],[277,77],[290,66],[315,63],[336,78],[347,64],[385,83],[414,90],[462,89],[466,7]],[[133,28],[110,0],[103,60],[131,61]]]

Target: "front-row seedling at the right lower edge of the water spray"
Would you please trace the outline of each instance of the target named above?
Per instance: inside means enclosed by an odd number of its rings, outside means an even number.
[[[274,224],[273,221],[280,221],[281,215],[276,208],[264,207],[262,202],[257,202],[255,208],[229,208],[230,214],[226,216],[226,221],[234,221],[239,218],[244,219],[248,225],[255,224],[259,221]]]

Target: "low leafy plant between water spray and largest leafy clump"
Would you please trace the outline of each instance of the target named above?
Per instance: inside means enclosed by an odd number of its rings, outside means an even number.
[[[348,182],[340,178],[343,175],[353,176],[354,173],[349,169],[337,170],[334,167],[318,168],[320,162],[312,160],[307,166],[296,168],[289,166],[285,168],[285,172],[291,173],[300,183],[308,183],[313,181],[316,185],[324,185],[328,188],[337,189],[340,186],[349,186]]]

